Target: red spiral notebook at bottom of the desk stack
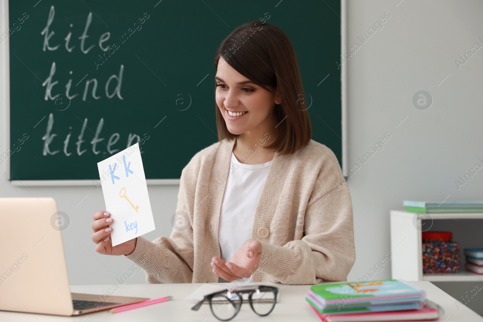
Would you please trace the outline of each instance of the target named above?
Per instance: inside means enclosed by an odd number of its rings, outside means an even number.
[[[427,300],[426,300],[427,301]],[[427,301],[429,302],[429,301]],[[434,304],[434,303],[433,303]],[[397,312],[375,312],[375,313],[356,313],[342,315],[327,315],[317,311],[312,307],[317,316],[323,322],[364,322],[364,321],[434,321],[438,320],[444,310],[434,305],[425,305],[418,310],[397,311]]]

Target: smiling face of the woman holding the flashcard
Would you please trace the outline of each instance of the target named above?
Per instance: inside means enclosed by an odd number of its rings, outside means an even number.
[[[241,134],[257,129],[264,131],[273,124],[273,108],[275,104],[280,104],[276,93],[251,83],[221,57],[215,82],[218,85],[216,104],[230,133]]]

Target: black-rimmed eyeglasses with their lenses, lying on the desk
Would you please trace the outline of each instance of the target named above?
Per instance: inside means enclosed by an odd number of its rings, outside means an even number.
[[[244,298],[242,294],[248,294],[248,299],[246,299],[246,296]],[[205,301],[208,301],[215,318],[221,321],[229,321],[240,312],[241,303],[248,300],[250,307],[256,314],[266,316],[275,308],[277,294],[278,288],[274,286],[255,285],[234,287],[205,295],[191,309],[198,311],[201,305]]]

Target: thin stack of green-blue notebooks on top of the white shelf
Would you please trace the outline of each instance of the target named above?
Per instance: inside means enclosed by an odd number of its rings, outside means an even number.
[[[483,201],[412,201],[404,200],[407,212],[483,212]]]

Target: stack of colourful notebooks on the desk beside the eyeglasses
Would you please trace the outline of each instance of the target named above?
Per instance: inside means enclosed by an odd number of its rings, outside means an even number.
[[[437,320],[442,308],[398,280],[312,285],[305,299],[324,322]]]

